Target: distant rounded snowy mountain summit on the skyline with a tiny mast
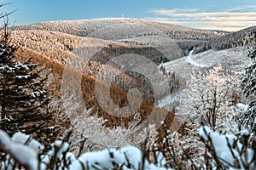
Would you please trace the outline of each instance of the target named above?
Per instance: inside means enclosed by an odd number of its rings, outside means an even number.
[[[219,34],[216,34],[217,31],[192,29],[157,21],[130,18],[55,20],[26,26],[15,26],[13,29],[61,31],[75,36],[97,37],[106,40],[152,35],[170,37],[216,37],[221,35],[221,33],[226,33],[226,31],[218,31]]]

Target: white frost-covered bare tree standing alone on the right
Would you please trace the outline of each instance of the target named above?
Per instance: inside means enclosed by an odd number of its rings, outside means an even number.
[[[183,99],[179,111],[184,121],[197,122],[212,127],[213,130],[235,130],[232,123],[235,107],[232,94],[234,80],[224,74],[221,65],[202,73],[193,72],[188,96]]]

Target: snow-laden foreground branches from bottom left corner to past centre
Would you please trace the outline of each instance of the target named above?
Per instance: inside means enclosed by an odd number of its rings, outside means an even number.
[[[61,140],[55,141],[45,155],[40,153],[43,148],[24,133],[15,133],[10,139],[7,133],[0,130],[0,149],[2,156],[5,156],[1,169],[166,169],[165,165],[149,163],[144,151],[134,146],[87,152],[79,158],[69,151],[69,144]],[[166,162],[162,154],[157,159]]]

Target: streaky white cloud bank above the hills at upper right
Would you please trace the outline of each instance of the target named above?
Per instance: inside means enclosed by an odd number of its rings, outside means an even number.
[[[220,11],[202,11],[198,8],[153,9],[155,17],[148,20],[171,22],[203,29],[237,31],[256,26],[256,5],[226,8]]]

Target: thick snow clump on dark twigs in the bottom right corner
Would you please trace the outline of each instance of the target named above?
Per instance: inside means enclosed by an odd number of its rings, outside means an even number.
[[[209,127],[201,127],[199,135],[206,144],[207,154],[214,167],[255,169],[254,150],[238,142],[236,135],[213,132]]]

